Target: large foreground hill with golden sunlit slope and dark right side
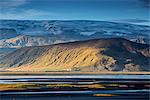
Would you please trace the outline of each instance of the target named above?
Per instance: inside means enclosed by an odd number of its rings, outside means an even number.
[[[147,44],[123,38],[24,47],[0,59],[9,71],[149,71]]]

